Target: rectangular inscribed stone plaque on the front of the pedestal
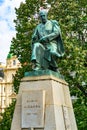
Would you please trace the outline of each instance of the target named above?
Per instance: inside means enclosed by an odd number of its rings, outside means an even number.
[[[22,128],[44,127],[45,91],[23,91]]]

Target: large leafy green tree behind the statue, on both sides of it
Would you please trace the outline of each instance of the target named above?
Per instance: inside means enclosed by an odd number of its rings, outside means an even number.
[[[69,83],[71,95],[78,97],[74,105],[75,113],[78,115],[76,116],[78,128],[85,129],[86,125],[83,127],[80,123],[84,124],[87,115],[79,116],[77,111],[79,106],[79,112],[82,112],[80,103],[83,105],[83,110],[87,111],[86,1],[48,0],[48,3],[51,4],[49,18],[59,21],[65,46],[65,56],[58,60],[58,67]],[[40,6],[44,6],[40,0],[26,0],[26,3],[21,3],[19,9],[15,9],[17,18],[14,22],[17,33],[16,38],[12,40],[10,52],[17,55],[22,64],[22,68],[18,70],[14,80],[15,91],[18,91],[20,79],[24,72],[31,70],[31,35],[38,23],[38,20],[34,17]]]

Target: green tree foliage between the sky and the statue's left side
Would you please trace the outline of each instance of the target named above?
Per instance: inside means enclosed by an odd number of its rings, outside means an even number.
[[[33,4],[32,4],[33,3]],[[38,5],[37,5],[38,3]],[[36,6],[37,5],[37,6]],[[18,93],[18,88],[21,78],[25,71],[31,70],[31,35],[36,23],[34,15],[39,9],[39,0],[26,0],[26,3],[21,3],[16,11],[16,38],[12,39],[10,53],[16,55],[22,64],[14,77],[15,92]]]

